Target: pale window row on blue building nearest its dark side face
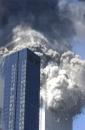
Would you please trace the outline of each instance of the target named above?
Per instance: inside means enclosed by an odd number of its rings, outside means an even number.
[[[22,61],[22,67],[21,67],[19,130],[24,130],[25,87],[26,87],[26,60]]]

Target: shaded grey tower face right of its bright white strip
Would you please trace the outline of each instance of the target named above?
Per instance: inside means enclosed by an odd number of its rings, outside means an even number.
[[[72,130],[72,118],[45,110],[45,130]]]

